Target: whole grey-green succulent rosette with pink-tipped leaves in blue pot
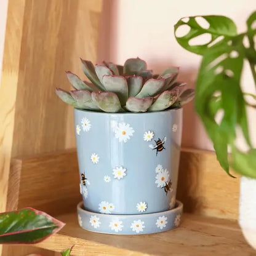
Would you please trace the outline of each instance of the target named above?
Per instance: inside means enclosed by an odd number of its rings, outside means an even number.
[[[56,89],[58,97],[75,108],[104,112],[146,112],[180,108],[194,97],[194,90],[175,82],[179,68],[167,68],[162,74],[146,69],[140,58],[129,58],[124,66],[103,62],[93,65],[82,60],[82,70],[90,82],[66,71],[75,90]]]

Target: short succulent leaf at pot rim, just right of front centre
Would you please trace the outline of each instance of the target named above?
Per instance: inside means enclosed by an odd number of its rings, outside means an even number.
[[[146,112],[153,103],[153,97],[135,98],[130,97],[126,102],[127,110],[131,112]]]

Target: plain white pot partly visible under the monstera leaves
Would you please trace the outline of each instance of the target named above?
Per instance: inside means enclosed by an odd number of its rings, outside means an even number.
[[[239,225],[244,238],[256,249],[256,179],[242,177],[240,183]]]

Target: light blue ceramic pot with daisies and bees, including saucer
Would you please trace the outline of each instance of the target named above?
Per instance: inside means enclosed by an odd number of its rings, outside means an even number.
[[[88,230],[89,223],[93,231],[127,234],[165,231],[173,227],[167,223],[178,224],[182,204],[175,207],[175,194],[182,109],[151,113],[75,109],[74,120],[83,198],[81,226]],[[109,230],[102,230],[103,214]],[[132,215],[140,222],[134,228],[124,226],[124,218],[131,221]],[[145,215],[154,222],[151,231],[145,231]],[[111,226],[114,217],[122,222],[116,223],[120,228]]]

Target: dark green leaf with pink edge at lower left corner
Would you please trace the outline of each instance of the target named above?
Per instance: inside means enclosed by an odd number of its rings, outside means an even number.
[[[0,214],[0,244],[35,244],[57,233],[64,225],[30,207],[4,212]]]

